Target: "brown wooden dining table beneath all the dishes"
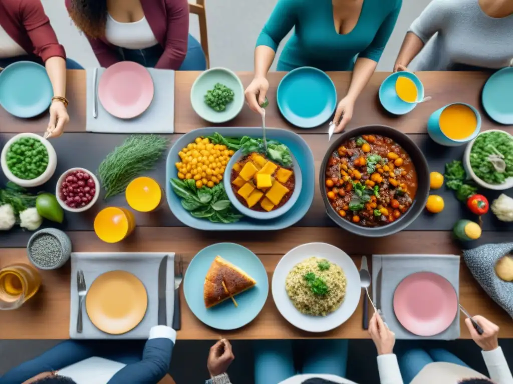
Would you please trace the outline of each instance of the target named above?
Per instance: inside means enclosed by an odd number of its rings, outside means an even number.
[[[201,119],[193,111],[190,104],[190,89],[192,83],[200,72],[176,72],[175,100],[174,100],[174,130],[172,135],[165,135],[170,139],[170,145],[194,129],[212,124]],[[451,102],[465,102],[476,106],[481,112],[483,122],[482,130],[501,129],[513,133],[513,126],[503,126],[492,122],[482,109],[480,98],[481,90],[487,73],[481,72],[421,72],[419,78],[424,84],[425,95],[432,100],[424,102],[404,116],[393,116],[383,110],[378,99],[378,90],[381,82],[389,73],[377,72],[369,81],[367,87],[360,95],[353,113],[353,117],[346,130],[369,124],[384,124],[410,135],[417,142],[427,139],[426,122],[429,115]],[[238,73],[246,87],[252,79],[248,72]],[[351,73],[331,72],[328,75],[333,80],[340,99],[347,92]],[[269,281],[275,266],[283,255],[290,249],[309,242],[325,242],[337,246],[348,253],[357,267],[360,267],[362,255],[372,254],[461,254],[461,244],[452,238],[450,225],[444,230],[406,229],[392,236],[380,239],[368,239],[353,235],[337,226],[328,224],[325,207],[320,195],[318,173],[321,161],[328,147],[327,124],[309,130],[293,127],[281,116],[276,101],[278,84],[284,73],[274,72],[268,76],[270,88],[268,91],[269,106],[266,109],[266,125],[292,130],[298,133],[310,146],[317,170],[315,180],[315,196],[313,203],[303,220],[299,223],[279,231],[239,231],[239,232],[211,232],[189,228],[177,221],[167,205],[159,214],[147,214],[137,218],[137,228],[125,241],[117,244],[107,244],[98,239],[93,231],[94,216],[85,216],[78,230],[64,230],[72,241],[73,251],[76,252],[175,252],[182,255],[186,262],[202,248],[218,242],[234,242],[248,247],[258,255],[268,273]],[[57,149],[58,161],[71,159],[73,151],[90,151],[94,156],[94,149],[87,145],[107,145],[103,142],[116,141],[121,144],[126,135],[93,134],[86,133],[86,72],[68,71],[67,92],[69,99],[70,122],[66,126],[66,133],[61,138],[52,139]],[[18,119],[9,115],[0,108],[0,143],[16,133],[34,132],[43,133],[48,123],[48,114],[34,119]],[[242,112],[224,126],[260,126],[260,116],[254,114],[249,108]],[[63,141],[65,140],[65,141]],[[64,144],[66,143],[66,144]],[[82,143],[88,143],[82,144]],[[110,144],[108,144],[110,145]],[[110,150],[113,149],[113,145]],[[109,151],[110,151],[109,150]],[[97,160],[97,163],[101,159]],[[165,161],[165,160],[163,160]],[[80,164],[70,165],[80,166]],[[67,168],[65,168],[67,169]],[[162,172],[159,168],[159,173]],[[443,172],[443,170],[442,170]],[[162,182],[164,175],[157,175]],[[49,190],[54,185],[48,187]],[[100,204],[98,202],[97,204]],[[102,202],[101,204],[108,204]],[[126,203],[125,203],[126,204]],[[66,213],[68,215],[68,212]],[[75,214],[76,215],[76,214]],[[510,232],[504,230],[485,230],[477,244],[499,243],[510,241]],[[9,264],[28,263],[26,241],[30,233],[13,231],[0,234],[0,268]],[[371,259],[371,258],[370,258]],[[0,311],[0,339],[66,339],[69,338],[70,324],[70,266],[69,263],[61,269],[53,271],[40,271],[43,284],[40,292],[25,303],[21,308],[11,311]],[[203,282],[198,282],[201,290]],[[460,262],[460,303],[471,313],[480,314],[496,323],[501,328],[501,337],[513,337],[511,317],[499,307],[481,286],[473,279],[463,259]],[[289,324],[280,314],[269,292],[267,302],[261,313],[248,325],[233,331],[218,331],[201,323],[190,311],[181,292],[182,329],[178,332],[179,339],[218,339],[228,337],[231,339],[273,339],[273,338],[368,338],[367,331],[362,328],[362,301],[356,312],[340,327],[329,332],[312,334],[301,331]],[[461,337],[469,338],[470,334],[461,316]]]

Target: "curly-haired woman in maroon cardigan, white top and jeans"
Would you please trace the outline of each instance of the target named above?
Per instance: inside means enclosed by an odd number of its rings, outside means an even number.
[[[102,67],[135,61],[148,68],[205,70],[189,34],[187,0],[65,0]]]

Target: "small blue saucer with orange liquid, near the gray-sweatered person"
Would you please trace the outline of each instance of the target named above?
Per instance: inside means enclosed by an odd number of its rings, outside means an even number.
[[[381,83],[379,96],[383,108],[394,115],[404,115],[417,106],[417,103],[408,103],[401,100],[397,95],[396,81],[399,76],[407,77],[415,83],[418,91],[417,100],[424,98],[424,86],[415,74],[406,71],[392,73]]]

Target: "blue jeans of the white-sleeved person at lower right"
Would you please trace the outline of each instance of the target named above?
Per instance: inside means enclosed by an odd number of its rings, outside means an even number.
[[[409,384],[411,380],[422,369],[431,362],[451,362],[459,366],[468,367],[457,356],[442,348],[421,349],[421,348],[401,348],[401,345],[394,348],[399,362],[399,369],[403,376],[404,384]]]

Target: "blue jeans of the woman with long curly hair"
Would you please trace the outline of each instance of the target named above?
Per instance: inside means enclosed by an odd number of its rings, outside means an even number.
[[[126,49],[117,47],[120,60],[134,61],[146,68],[154,68],[164,53],[164,48],[157,44],[145,49]],[[179,71],[204,71],[207,69],[207,60],[201,44],[189,34],[187,39],[187,54]]]

